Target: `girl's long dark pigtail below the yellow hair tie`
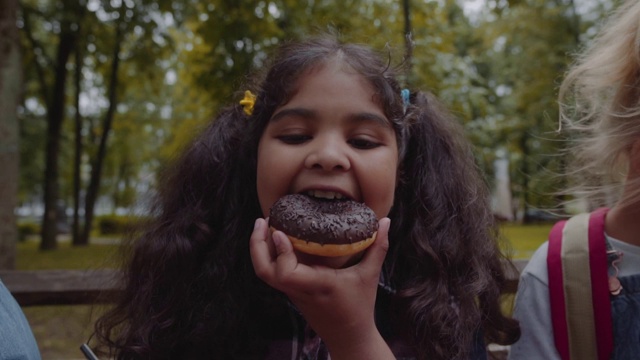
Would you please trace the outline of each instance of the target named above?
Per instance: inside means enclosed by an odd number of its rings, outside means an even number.
[[[253,351],[239,343],[255,335],[243,327],[251,304],[241,293],[258,283],[244,255],[261,216],[248,186],[255,169],[239,150],[248,128],[242,107],[223,110],[160,176],[155,219],[126,247],[122,297],[96,323],[110,356]]]

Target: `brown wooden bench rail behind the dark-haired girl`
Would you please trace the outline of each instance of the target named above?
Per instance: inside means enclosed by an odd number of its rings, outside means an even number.
[[[516,260],[507,273],[505,293],[514,294],[527,260]],[[117,270],[0,270],[0,279],[20,306],[82,305],[110,302],[119,291]]]

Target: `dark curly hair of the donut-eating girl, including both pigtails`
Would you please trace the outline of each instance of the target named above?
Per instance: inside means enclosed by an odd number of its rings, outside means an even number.
[[[154,220],[125,245],[122,296],[96,323],[97,350],[118,359],[259,359],[286,297],[257,278],[249,237],[262,217],[257,147],[306,71],[328,59],[365,77],[400,153],[385,272],[397,289],[392,323],[419,358],[468,358],[477,334],[513,343],[487,186],[455,118],[426,92],[406,107],[395,70],[366,46],[320,36],[280,47],[252,86],[251,116],[223,109],[160,177]],[[403,107],[406,107],[403,108]],[[507,262],[508,263],[508,262]]]

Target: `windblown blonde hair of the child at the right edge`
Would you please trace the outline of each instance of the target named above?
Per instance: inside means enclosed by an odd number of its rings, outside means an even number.
[[[640,1],[618,7],[576,57],[559,101],[573,155],[567,175],[575,183],[567,193],[586,198],[591,208],[613,205],[625,183],[631,146],[640,139]],[[637,201],[640,186],[635,188]]]

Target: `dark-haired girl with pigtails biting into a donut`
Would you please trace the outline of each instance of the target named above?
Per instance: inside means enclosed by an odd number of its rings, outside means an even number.
[[[98,352],[486,359],[486,344],[518,338],[500,308],[486,185],[432,95],[333,36],[284,44],[247,88],[160,177],[122,296],[96,323]],[[331,256],[294,249],[268,218],[290,195],[366,205],[374,241]]]

